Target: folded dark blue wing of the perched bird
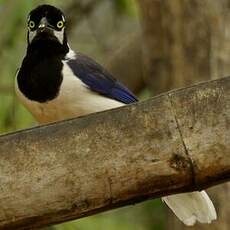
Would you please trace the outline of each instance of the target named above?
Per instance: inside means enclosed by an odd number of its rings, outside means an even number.
[[[66,62],[76,77],[91,90],[125,104],[138,101],[129,89],[93,59],[77,53],[74,59],[66,59]]]

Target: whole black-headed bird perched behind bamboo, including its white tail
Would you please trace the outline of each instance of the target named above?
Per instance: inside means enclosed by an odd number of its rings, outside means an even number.
[[[64,13],[39,5],[27,17],[27,50],[15,91],[40,124],[61,121],[137,102],[137,97],[92,58],[68,44]],[[162,200],[186,225],[211,223],[215,207],[205,191]]]

